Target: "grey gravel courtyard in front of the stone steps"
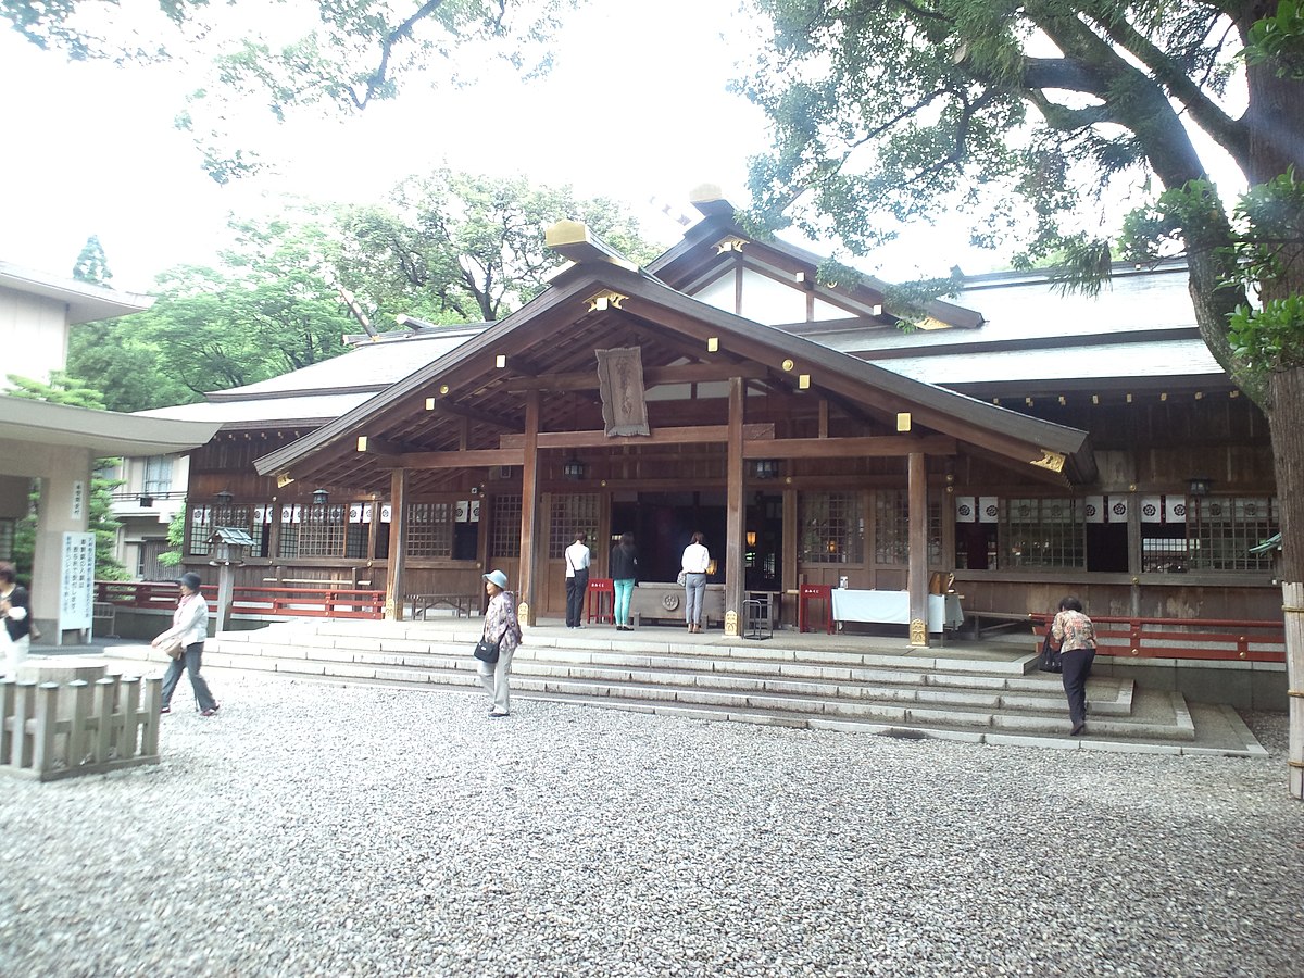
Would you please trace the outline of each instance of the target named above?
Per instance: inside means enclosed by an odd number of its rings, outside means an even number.
[[[214,675],[163,763],[0,780],[4,975],[1300,975],[1269,760]]]

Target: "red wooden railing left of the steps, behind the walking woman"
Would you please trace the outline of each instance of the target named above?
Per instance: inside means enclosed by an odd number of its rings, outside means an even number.
[[[211,605],[218,588],[201,588]],[[154,608],[170,612],[176,608],[176,584],[132,580],[96,580],[95,600],[119,608]],[[295,618],[381,618],[385,592],[338,587],[235,587],[231,593],[232,614],[274,614]]]

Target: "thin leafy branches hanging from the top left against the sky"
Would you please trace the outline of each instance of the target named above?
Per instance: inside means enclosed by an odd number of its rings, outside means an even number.
[[[130,17],[111,18],[107,4],[93,0],[0,0],[0,18],[74,60],[209,59],[209,78],[176,124],[193,134],[209,175],[227,183],[263,167],[228,120],[250,110],[278,120],[303,110],[360,112],[422,76],[459,83],[490,60],[527,76],[544,72],[548,40],[575,1],[158,0],[153,17],[136,5]],[[295,37],[273,40],[271,30]]]

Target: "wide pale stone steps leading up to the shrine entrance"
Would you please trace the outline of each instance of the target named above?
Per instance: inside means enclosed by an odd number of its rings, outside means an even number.
[[[479,692],[471,657],[479,625],[287,621],[210,639],[205,669]],[[1059,677],[1035,672],[1035,655],[1026,649],[994,655],[1001,647],[983,643],[974,656],[945,647],[906,655],[901,644],[540,627],[527,631],[516,651],[512,698],[988,745],[1266,756],[1235,709],[1188,704],[1178,692],[1112,677],[1090,681],[1086,734],[1071,738]],[[112,655],[164,661],[142,645]]]

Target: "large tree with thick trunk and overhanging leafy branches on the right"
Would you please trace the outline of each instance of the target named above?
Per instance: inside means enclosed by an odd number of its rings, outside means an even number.
[[[1205,343],[1267,415],[1284,604],[1304,604],[1294,179],[1304,163],[1304,25],[1294,3],[755,5],[773,20],[743,83],[776,137],[752,166],[760,222],[832,231],[859,252],[896,220],[968,213],[977,240],[1017,235],[1030,259],[1060,249],[1090,287],[1108,267],[1120,231],[1110,214],[1123,197],[1140,205],[1127,254],[1185,254]],[[1252,188],[1239,206],[1210,179],[1213,153]],[[1292,686],[1304,682],[1300,644],[1288,639]],[[1292,730],[1300,760],[1304,724]],[[1304,797],[1299,775],[1292,792]]]

